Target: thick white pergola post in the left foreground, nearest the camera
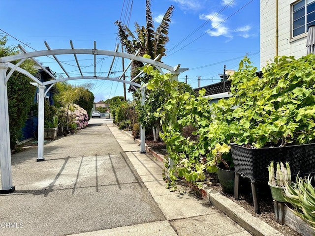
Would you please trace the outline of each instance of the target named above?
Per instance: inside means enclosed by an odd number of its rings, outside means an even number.
[[[9,108],[5,83],[7,69],[7,64],[0,63],[0,165],[2,186],[0,194],[12,193],[15,190],[12,186]]]

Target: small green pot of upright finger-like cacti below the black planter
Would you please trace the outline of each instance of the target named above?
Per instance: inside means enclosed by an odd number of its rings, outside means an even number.
[[[277,168],[275,173],[274,161],[271,161],[268,166],[269,181],[272,198],[284,203],[284,186],[291,186],[291,170],[288,162],[285,162],[285,166],[282,162],[277,162]]]

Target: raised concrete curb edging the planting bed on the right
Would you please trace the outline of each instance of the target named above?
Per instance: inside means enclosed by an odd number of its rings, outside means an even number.
[[[132,135],[124,130],[121,130],[122,132],[125,132],[127,135],[132,137]],[[140,144],[139,139],[135,139]],[[152,150],[150,147],[145,145],[146,150],[156,157],[159,161],[162,163],[164,162],[164,155],[156,153],[154,150]],[[194,189],[201,193],[202,198],[209,202],[214,207],[217,207],[219,210],[221,210],[224,214],[226,214],[229,218],[231,218],[233,221],[235,221],[237,224],[242,226],[245,230],[250,232],[254,236],[282,236],[283,234],[280,233],[278,230],[274,229],[264,221],[260,220],[259,218],[253,216],[251,213],[249,213],[244,207],[239,206],[232,200],[230,200],[227,197],[224,197],[221,193],[218,191],[212,189],[212,188],[202,188],[199,189],[196,186],[189,184],[189,187],[191,189]]]

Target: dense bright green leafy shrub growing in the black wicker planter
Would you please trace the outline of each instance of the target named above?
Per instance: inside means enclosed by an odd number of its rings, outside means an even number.
[[[231,77],[233,96],[214,105],[232,141],[252,148],[314,143],[314,68],[313,54],[276,57],[258,78],[257,68],[243,59]]]

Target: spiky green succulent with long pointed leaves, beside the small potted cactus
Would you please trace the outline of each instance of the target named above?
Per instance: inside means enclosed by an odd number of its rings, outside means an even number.
[[[296,177],[296,185],[284,187],[284,199],[294,207],[294,214],[315,230],[315,188],[312,177]]]

